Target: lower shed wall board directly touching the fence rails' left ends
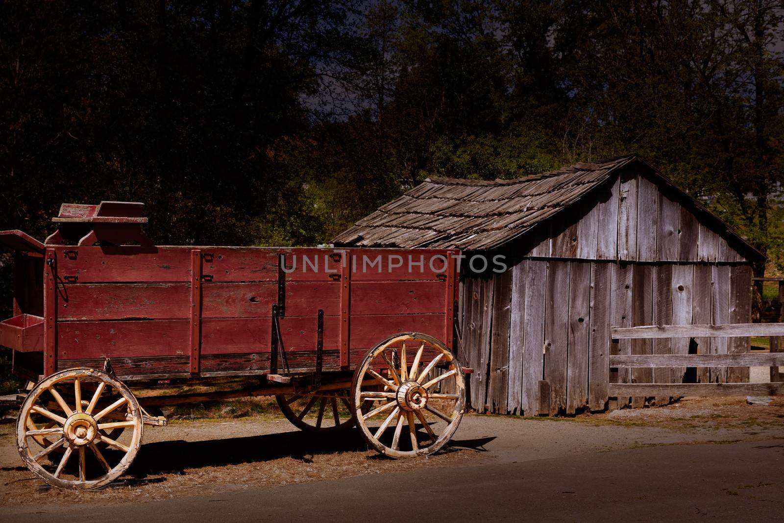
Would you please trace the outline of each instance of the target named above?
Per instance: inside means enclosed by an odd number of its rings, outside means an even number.
[[[588,407],[604,409],[610,380],[610,263],[591,264]]]

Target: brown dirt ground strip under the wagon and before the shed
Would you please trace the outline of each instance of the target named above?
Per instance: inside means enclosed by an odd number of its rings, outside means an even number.
[[[209,419],[187,419],[193,412],[179,412],[176,416],[185,419],[145,429],[144,445],[125,475],[125,486],[81,493],[41,488],[16,453],[14,425],[0,425],[0,504],[24,510],[21,506],[175,499],[363,474],[464,467],[488,459],[517,463],[648,446],[784,439],[784,398],[770,405],[747,405],[746,398],[685,398],[666,407],[575,418],[468,415],[445,452],[392,460],[368,451],[357,430],[315,436],[294,429],[274,412],[268,400],[200,412],[213,416]],[[729,488],[738,491],[743,485]]]

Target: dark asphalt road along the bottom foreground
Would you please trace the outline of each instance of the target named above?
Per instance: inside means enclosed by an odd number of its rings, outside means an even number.
[[[4,521],[782,521],[784,438],[654,445],[371,474],[114,507],[11,507]]]

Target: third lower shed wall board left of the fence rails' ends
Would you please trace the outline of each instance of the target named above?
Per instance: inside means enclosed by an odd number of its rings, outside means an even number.
[[[568,261],[550,261],[547,265],[544,379],[550,383],[553,414],[566,408],[570,265]]]

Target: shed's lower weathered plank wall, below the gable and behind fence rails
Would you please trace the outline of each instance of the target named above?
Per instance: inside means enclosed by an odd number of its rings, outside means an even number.
[[[503,274],[468,275],[463,347],[471,406],[539,415],[604,409],[608,383],[683,383],[685,368],[611,369],[610,355],[742,354],[748,338],[619,340],[610,327],[750,321],[751,267],[524,259]],[[748,368],[696,369],[696,383],[741,383]],[[618,398],[619,405],[669,397]]]

